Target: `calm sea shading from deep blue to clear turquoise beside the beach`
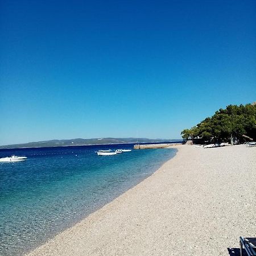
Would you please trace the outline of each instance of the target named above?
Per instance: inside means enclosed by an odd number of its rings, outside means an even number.
[[[150,176],[174,148],[112,156],[95,151],[131,144],[0,150],[0,255],[20,255],[47,241]]]

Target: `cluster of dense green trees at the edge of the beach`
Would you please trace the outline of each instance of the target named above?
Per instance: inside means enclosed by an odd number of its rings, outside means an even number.
[[[256,104],[229,105],[191,129],[181,131],[182,138],[196,143],[242,143],[256,140]]]

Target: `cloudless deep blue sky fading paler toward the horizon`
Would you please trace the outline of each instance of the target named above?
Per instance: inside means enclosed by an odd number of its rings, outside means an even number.
[[[256,2],[2,1],[0,144],[180,138],[256,101]]]

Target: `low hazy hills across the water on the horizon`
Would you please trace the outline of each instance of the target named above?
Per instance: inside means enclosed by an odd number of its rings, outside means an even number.
[[[126,144],[126,143],[150,143],[150,142],[176,142],[181,139],[147,139],[147,138],[96,138],[96,139],[53,139],[52,141],[29,142],[0,146],[4,148],[30,148],[30,147],[67,147],[98,144]]]

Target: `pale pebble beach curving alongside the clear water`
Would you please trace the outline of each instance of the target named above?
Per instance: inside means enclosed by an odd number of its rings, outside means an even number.
[[[155,174],[28,255],[229,255],[239,236],[255,237],[256,147],[175,147]]]

